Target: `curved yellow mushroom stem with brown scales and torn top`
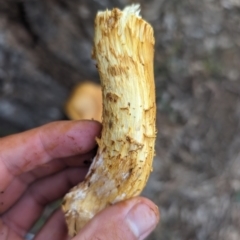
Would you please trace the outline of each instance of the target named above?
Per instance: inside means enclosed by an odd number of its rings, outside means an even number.
[[[64,198],[71,236],[100,210],[139,195],[146,185],[156,137],[153,54],[153,29],[138,5],[97,14],[93,57],[103,91],[103,130],[86,179]]]

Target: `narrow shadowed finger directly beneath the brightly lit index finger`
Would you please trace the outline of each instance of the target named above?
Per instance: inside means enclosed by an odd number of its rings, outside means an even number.
[[[3,193],[0,193],[0,214],[7,211],[26,191],[28,186],[39,178],[55,174],[67,167],[87,167],[95,151],[81,156],[69,157],[69,159],[57,159],[48,164],[42,165],[19,177],[15,177]],[[84,163],[85,162],[85,163]]]

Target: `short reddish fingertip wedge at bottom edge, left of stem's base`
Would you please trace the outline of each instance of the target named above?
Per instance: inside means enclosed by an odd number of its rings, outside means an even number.
[[[45,223],[34,240],[67,240],[68,232],[63,212],[57,210]]]

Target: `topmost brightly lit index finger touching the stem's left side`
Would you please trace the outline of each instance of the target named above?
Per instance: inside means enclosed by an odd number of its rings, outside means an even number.
[[[0,192],[14,176],[52,159],[89,152],[100,130],[94,121],[62,121],[0,139]]]

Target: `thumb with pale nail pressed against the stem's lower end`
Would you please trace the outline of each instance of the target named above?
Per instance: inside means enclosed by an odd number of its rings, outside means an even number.
[[[98,213],[72,240],[143,240],[159,221],[157,206],[135,197]]]

